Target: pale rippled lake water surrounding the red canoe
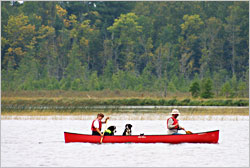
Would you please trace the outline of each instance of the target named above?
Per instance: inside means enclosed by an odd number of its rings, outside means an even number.
[[[1,166],[249,167],[249,117],[206,117],[179,122],[192,132],[219,129],[218,144],[65,144],[64,131],[90,134],[95,116],[2,120]],[[166,120],[157,116],[156,120],[119,118],[108,121],[108,126],[117,127],[116,135],[122,134],[127,123],[133,125],[133,134],[166,133]]]

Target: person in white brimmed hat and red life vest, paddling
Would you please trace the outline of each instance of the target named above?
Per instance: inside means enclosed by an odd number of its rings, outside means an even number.
[[[180,115],[179,110],[173,109],[171,112],[172,116],[167,119],[168,134],[177,135],[178,130],[185,130],[178,123],[177,117]]]

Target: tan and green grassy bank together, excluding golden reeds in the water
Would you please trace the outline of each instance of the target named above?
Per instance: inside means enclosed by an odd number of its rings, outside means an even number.
[[[163,98],[159,93],[124,91],[19,91],[3,92],[2,112],[89,111],[94,106],[248,106],[246,98],[192,99],[189,96]],[[129,97],[130,96],[130,97]],[[112,109],[115,110],[115,109]],[[111,110],[111,111],[112,111]],[[107,110],[106,110],[107,111]]]

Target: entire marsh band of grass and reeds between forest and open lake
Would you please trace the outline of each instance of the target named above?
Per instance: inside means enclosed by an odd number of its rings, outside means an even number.
[[[172,96],[172,97],[171,97]],[[178,93],[163,98],[160,92],[133,91],[18,91],[3,92],[1,119],[93,119],[104,113],[113,119],[154,120],[165,119],[174,106],[185,120],[192,116],[249,116],[248,98],[190,99],[190,95]],[[100,106],[100,108],[99,108]],[[110,107],[112,106],[112,107]],[[136,109],[122,106],[141,106]],[[147,106],[168,106],[149,108]],[[184,106],[216,106],[215,108],[183,108]],[[220,106],[220,108],[218,108]],[[225,107],[224,106],[235,106]],[[206,117],[209,119],[209,117]]]

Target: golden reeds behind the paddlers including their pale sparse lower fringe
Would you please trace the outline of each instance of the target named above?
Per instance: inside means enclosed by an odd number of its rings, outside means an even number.
[[[180,109],[182,120],[197,120],[205,118],[212,120],[216,116],[223,120],[223,116],[231,117],[248,117],[248,108],[217,108],[217,109]],[[105,116],[110,116],[112,120],[164,120],[170,116],[171,109],[154,109],[154,110],[86,110],[86,111],[40,111],[40,110],[26,110],[26,111],[12,111],[1,113],[1,119],[37,119],[37,120],[91,120],[96,117],[98,113],[104,113]],[[211,118],[211,119],[209,119]]]

